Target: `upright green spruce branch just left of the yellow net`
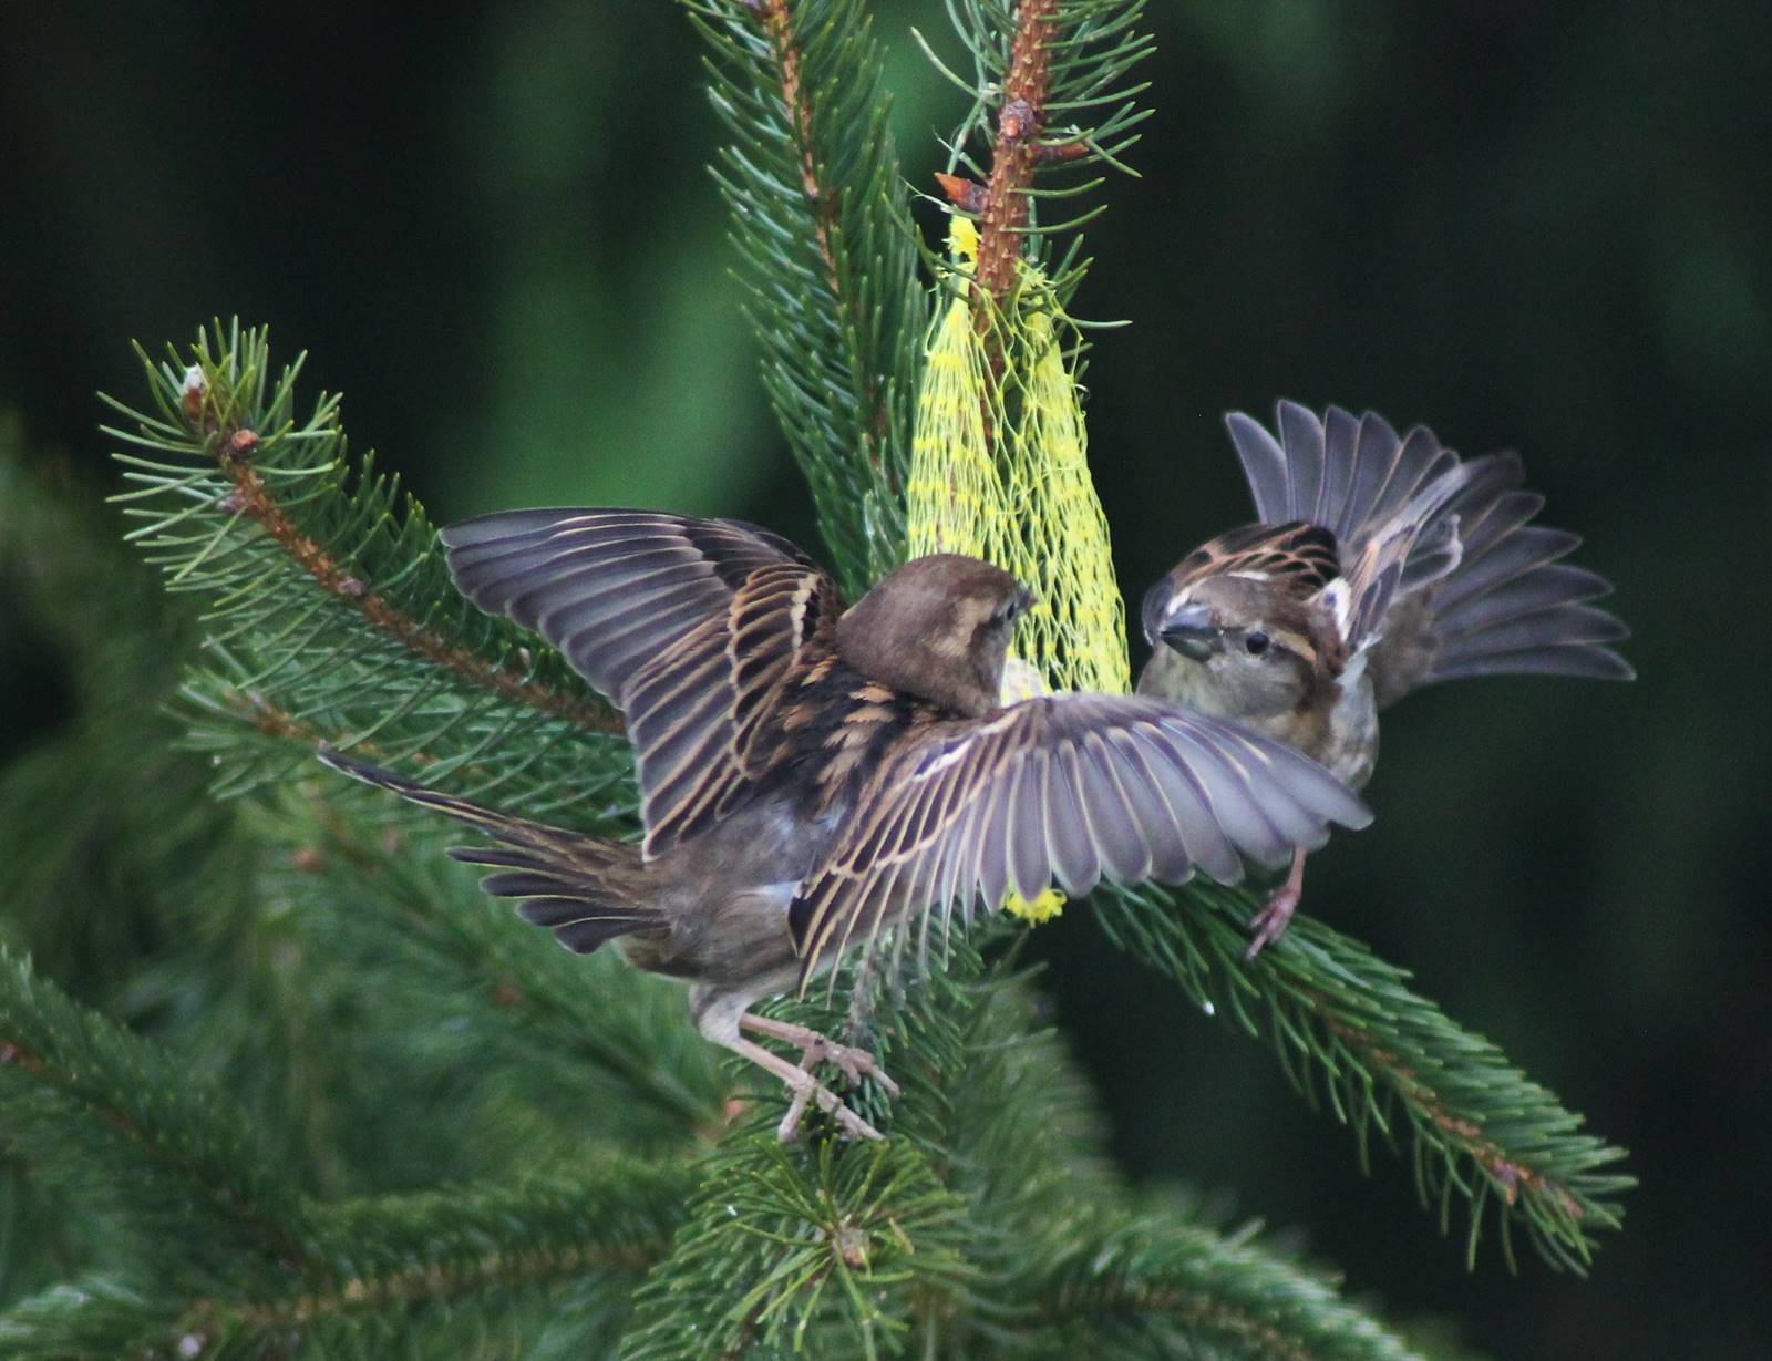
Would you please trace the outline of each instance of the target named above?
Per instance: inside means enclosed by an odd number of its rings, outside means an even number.
[[[764,388],[851,595],[893,565],[923,296],[859,0],[686,0]]]

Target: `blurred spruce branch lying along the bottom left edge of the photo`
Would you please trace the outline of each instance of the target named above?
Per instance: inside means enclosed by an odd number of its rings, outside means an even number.
[[[565,1303],[579,1347],[606,1343],[691,1186],[682,1164],[606,1157],[574,1177],[310,1205],[299,1272],[172,1295],[89,1278],[0,1315],[0,1347],[19,1361],[214,1361],[328,1357],[377,1334],[418,1352],[436,1334],[464,1356],[482,1354],[466,1336],[501,1320],[521,1347]]]

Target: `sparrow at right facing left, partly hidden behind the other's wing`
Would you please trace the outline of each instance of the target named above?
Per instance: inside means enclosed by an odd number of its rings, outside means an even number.
[[[1278,438],[1224,418],[1260,521],[1196,548],[1143,601],[1141,695],[1233,719],[1364,789],[1379,711],[1421,686],[1510,672],[1628,680],[1591,604],[1611,583],[1565,564],[1581,539],[1529,521],[1513,454],[1460,459],[1375,413],[1279,402]],[[1251,922],[1285,932],[1308,847]]]

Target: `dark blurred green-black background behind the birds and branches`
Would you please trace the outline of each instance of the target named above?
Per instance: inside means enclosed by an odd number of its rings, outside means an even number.
[[[812,542],[703,174],[672,5],[9,7],[0,409],[101,470],[129,338],[211,315],[312,351],[308,393],[438,519],[626,502]],[[879,5],[905,174],[960,113]],[[1765,680],[1772,9],[1155,5],[1157,117],[1076,310],[1122,581],[1247,517],[1219,427],[1276,395],[1520,448],[1618,583],[1630,688],[1490,680],[1386,727],[1372,833],[1308,909],[1632,1150],[1588,1281],[1467,1274],[1407,1170],[1072,913],[1058,1019],[1134,1177],[1233,1189],[1354,1290],[1496,1356],[1747,1356],[1768,1336]],[[952,48],[952,43],[946,44]],[[0,601],[4,604],[4,601]],[[62,677],[0,617],[0,758]],[[1758,1347],[1756,1347],[1758,1343]]]

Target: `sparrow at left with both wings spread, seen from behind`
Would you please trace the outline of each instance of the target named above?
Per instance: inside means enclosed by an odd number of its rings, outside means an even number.
[[[757,1015],[847,948],[969,920],[1056,879],[1235,883],[1278,867],[1364,805],[1279,743],[1131,695],[1003,707],[1005,654],[1031,603],[1014,576],[932,555],[845,610],[794,544],[730,519],[517,510],[441,533],[457,588],[535,629],[615,702],[634,750],[643,835],[590,836],[425,789],[323,750],[346,774],[480,829],[457,847],[487,893],[588,953],[617,941],[689,985],[695,1024],[849,1138],[881,1138],[813,1077],[897,1086],[865,1049]],[[799,1063],[750,1035],[797,1047]]]

